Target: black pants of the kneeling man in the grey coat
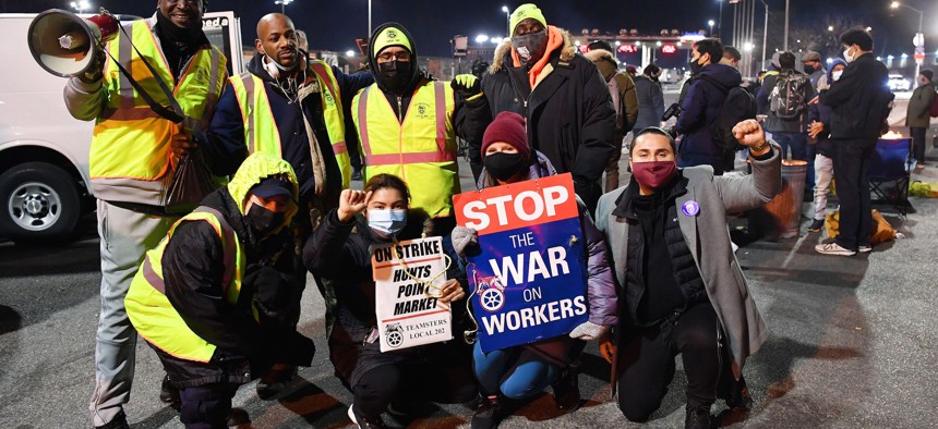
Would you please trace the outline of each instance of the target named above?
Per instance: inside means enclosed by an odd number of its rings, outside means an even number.
[[[620,344],[618,408],[632,421],[646,421],[661,406],[681,354],[687,376],[687,405],[709,407],[717,401],[720,377],[720,323],[709,302],[697,304],[676,321],[627,333]]]

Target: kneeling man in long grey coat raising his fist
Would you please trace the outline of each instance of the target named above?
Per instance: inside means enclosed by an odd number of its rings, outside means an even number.
[[[779,148],[754,120],[733,128],[753,174],[714,176],[710,166],[677,169],[674,139],[640,131],[629,148],[632,182],[605,194],[597,226],[611,249],[623,305],[613,368],[618,407],[645,421],[661,405],[681,354],[686,428],[710,428],[717,397],[751,400],[743,364],[768,336],[733,249],[726,213],[756,208],[781,188]]]

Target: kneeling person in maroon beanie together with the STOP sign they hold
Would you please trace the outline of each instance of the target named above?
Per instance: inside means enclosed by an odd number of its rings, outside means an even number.
[[[510,186],[503,187],[504,193],[466,193],[455,198],[460,226],[453,231],[453,245],[457,254],[465,256],[468,253],[470,265],[478,267],[470,271],[478,283],[476,289],[482,308],[476,307],[480,341],[474,346],[473,367],[484,399],[472,416],[472,428],[498,425],[504,417],[500,397],[530,397],[548,387],[552,387],[560,409],[572,412],[579,407],[575,363],[584,342],[577,340],[596,340],[618,320],[615,286],[602,235],[593,225],[586,206],[574,197],[569,176],[557,176],[548,158],[528,145],[525,119],[513,112],[498,114],[485,130],[482,158],[485,169],[479,177],[479,188]],[[522,183],[533,180],[538,180],[537,185]],[[536,195],[543,197],[532,201]],[[561,207],[560,201],[565,201],[565,207]],[[497,210],[489,211],[497,216],[483,212],[485,205],[500,205]],[[561,214],[567,208],[569,214]],[[519,214],[502,219],[506,211]],[[545,216],[537,216],[538,211]],[[563,219],[551,222],[552,216]],[[563,240],[564,245],[548,248],[546,242],[555,241],[562,234],[558,231],[569,228],[570,221],[573,234],[563,235],[562,238],[568,237]],[[562,222],[566,223],[560,225]],[[498,237],[491,238],[494,235],[504,238],[504,234],[509,234],[507,247]],[[478,235],[482,235],[482,247],[498,248],[489,254],[480,250]],[[520,248],[526,249],[517,255],[503,256]],[[495,254],[498,255],[495,258],[488,256]],[[492,267],[496,274],[478,279],[479,272],[488,270],[488,267]],[[577,273],[580,274],[575,279],[577,281],[567,280]],[[584,281],[586,296],[582,296],[582,289],[557,291],[582,287]],[[497,292],[492,290],[493,283],[497,284]],[[514,292],[519,287],[525,289],[521,299],[517,299],[517,292]],[[549,294],[561,297],[541,298]],[[574,297],[570,299],[570,296]],[[493,298],[497,302],[492,302]],[[528,307],[505,311],[508,307],[505,302],[510,301],[528,302],[525,304]],[[570,328],[553,335],[538,336],[556,322],[562,323],[562,319],[577,317],[582,321],[568,324]],[[509,341],[527,344],[506,345],[503,342],[507,335],[520,336],[517,331],[525,328],[532,331],[526,335],[536,335],[533,342],[524,339]]]

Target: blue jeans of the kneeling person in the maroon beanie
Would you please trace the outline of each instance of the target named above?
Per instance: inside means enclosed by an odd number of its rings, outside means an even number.
[[[472,348],[472,357],[476,378],[483,394],[501,391],[506,397],[520,400],[543,392],[561,377],[561,368],[549,364],[524,346],[485,354],[477,342]]]

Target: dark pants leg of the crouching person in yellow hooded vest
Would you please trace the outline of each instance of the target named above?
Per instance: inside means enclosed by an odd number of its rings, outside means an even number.
[[[206,384],[179,391],[181,408],[179,420],[187,429],[216,429],[228,427],[231,399],[237,385],[228,383]]]

